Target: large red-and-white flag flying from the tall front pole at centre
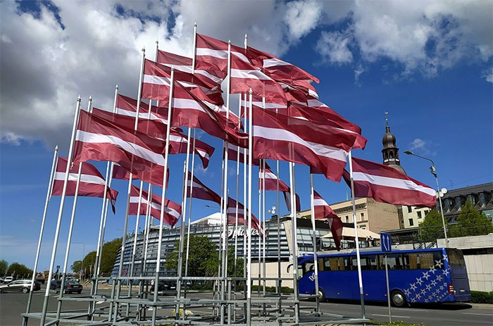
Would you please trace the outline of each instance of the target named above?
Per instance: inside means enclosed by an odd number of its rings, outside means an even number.
[[[308,165],[339,182],[356,137],[334,127],[253,109],[255,158]]]

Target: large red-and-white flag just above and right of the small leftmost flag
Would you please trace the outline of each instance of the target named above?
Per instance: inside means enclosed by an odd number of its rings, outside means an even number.
[[[112,161],[130,170],[140,180],[153,182],[153,177],[160,176],[146,174],[156,166],[164,166],[165,146],[161,139],[80,111],[74,161]],[[162,181],[163,175],[160,178]]]

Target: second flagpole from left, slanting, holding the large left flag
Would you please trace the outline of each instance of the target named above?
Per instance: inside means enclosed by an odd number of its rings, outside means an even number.
[[[77,97],[77,103],[75,104],[75,115],[72,127],[72,137],[70,139],[70,147],[68,149],[68,158],[67,158],[67,168],[65,170],[65,180],[63,181],[63,190],[60,201],[60,208],[58,210],[58,220],[56,221],[56,230],[55,230],[55,238],[53,242],[53,248],[51,250],[51,261],[48,272],[48,282],[51,282],[51,277],[53,277],[53,267],[56,256],[56,247],[58,246],[58,236],[60,235],[60,226],[61,219],[63,215],[63,204],[65,203],[65,194],[67,193],[67,183],[68,183],[68,175],[70,173],[70,165],[72,163],[72,154],[75,142],[75,131],[77,130],[77,120],[79,118],[79,110],[80,110],[80,96]],[[49,300],[49,286],[46,287],[46,291],[44,292],[44,301],[43,301],[43,310],[41,313],[41,320],[39,325],[44,325],[46,321],[46,311],[48,309],[48,300]]]

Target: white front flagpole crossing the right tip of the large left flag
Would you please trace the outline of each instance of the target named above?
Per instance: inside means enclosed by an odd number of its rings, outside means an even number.
[[[158,301],[158,283],[159,283],[159,271],[161,270],[161,248],[162,238],[163,238],[163,220],[164,220],[164,211],[166,204],[166,186],[167,186],[167,177],[168,177],[168,151],[170,149],[170,125],[171,125],[171,108],[173,107],[173,89],[175,83],[175,69],[171,68],[171,77],[170,77],[170,100],[168,103],[168,128],[166,128],[166,148],[164,153],[164,171],[163,171],[163,192],[161,194],[161,215],[159,219],[159,237],[158,237],[158,256],[156,258],[156,275],[154,278],[154,299],[153,299],[153,310],[152,310],[152,326],[156,326],[156,316],[157,316],[157,306],[156,303]]]

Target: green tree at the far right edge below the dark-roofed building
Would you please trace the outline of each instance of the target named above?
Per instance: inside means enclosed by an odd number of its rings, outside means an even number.
[[[457,217],[457,224],[451,230],[451,236],[468,237],[492,232],[492,221],[484,213],[478,212],[473,203],[467,200]]]

